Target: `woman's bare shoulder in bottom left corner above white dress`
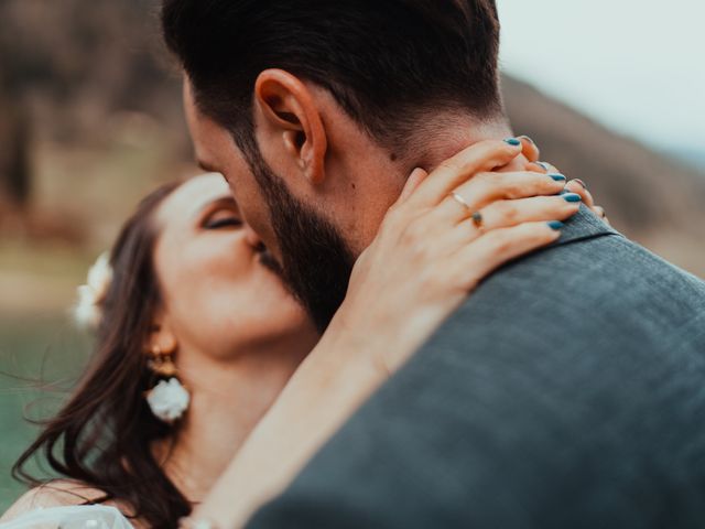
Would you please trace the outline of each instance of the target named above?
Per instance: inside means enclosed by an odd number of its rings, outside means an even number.
[[[102,498],[104,493],[84,483],[72,479],[55,479],[22,495],[2,515],[0,521],[9,521],[39,508],[84,505]]]

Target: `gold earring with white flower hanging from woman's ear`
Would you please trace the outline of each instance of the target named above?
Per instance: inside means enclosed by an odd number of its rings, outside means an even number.
[[[171,424],[188,409],[191,395],[176,376],[172,353],[164,353],[155,345],[148,367],[160,381],[147,392],[147,403],[154,417]]]

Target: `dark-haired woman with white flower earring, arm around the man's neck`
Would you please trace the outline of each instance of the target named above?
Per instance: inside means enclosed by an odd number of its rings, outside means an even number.
[[[67,507],[86,504],[116,507],[137,528],[175,527],[194,506],[241,523],[482,277],[554,241],[581,197],[592,206],[583,185],[545,174],[554,168],[489,173],[522,150],[536,159],[527,140],[487,141],[462,163],[414,171],[323,337],[218,175],[149,195],[112,248],[91,365],[15,467],[29,478],[22,465],[41,451],[64,479],[30,478],[37,488],[7,527],[64,516],[129,527],[107,507]],[[165,387],[175,398],[160,398]],[[64,510],[34,514],[55,506]]]

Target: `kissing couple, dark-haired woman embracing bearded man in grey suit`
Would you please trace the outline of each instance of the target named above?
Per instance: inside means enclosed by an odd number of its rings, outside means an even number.
[[[513,136],[492,0],[162,24],[209,173],[91,270],[0,528],[705,523],[705,284]]]

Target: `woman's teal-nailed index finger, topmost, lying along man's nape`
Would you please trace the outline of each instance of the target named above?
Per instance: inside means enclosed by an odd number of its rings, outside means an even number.
[[[522,143],[509,140],[485,140],[464,149],[441,163],[408,198],[412,207],[432,207],[455,187],[476,173],[489,172],[510,163],[521,154]]]

